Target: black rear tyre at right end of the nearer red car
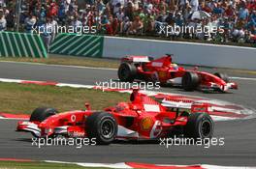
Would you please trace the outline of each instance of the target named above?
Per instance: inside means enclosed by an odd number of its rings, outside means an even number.
[[[210,139],[213,131],[214,123],[207,113],[191,113],[184,127],[184,136],[193,139]]]

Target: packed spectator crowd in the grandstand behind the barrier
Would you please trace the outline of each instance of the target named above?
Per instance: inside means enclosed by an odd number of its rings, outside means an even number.
[[[0,31],[15,31],[16,0],[0,0]],[[20,31],[36,26],[96,27],[103,35],[163,36],[159,25],[216,26],[221,33],[178,33],[172,39],[256,42],[256,0],[21,0]],[[208,14],[192,18],[196,12]],[[54,36],[54,35],[52,35]]]

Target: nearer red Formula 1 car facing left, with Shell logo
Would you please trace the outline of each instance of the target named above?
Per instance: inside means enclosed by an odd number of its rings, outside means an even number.
[[[76,110],[56,114],[53,108],[37,108],[29,122],[18,122],[17,131],[37,137],[63,135],[95,138],[97,144],[115,139],[141,140],[166,138],[178,133],[185,138],[211,138],[214,124],[208,105],[195,103],[191,111],[181,111],[159,103],[134,90],[130,102],[119,102],[104,111]]]

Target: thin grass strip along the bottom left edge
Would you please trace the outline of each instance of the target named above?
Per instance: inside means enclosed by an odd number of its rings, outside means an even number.
[[[0,161],[0,169],[100,169],[99,167],[82,167],[76,164],[61,164],[51,162],[14,162]]]

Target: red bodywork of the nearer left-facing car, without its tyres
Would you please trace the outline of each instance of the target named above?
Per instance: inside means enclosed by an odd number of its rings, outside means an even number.
[[[189,113],[208,113],[208,110],[208,105],[195,103],[192,104]],[[131,94],[130,102],[119,102],[104,111],[112,114],[117,122],[116,139],[166,137],[174,129],[184,127],[188,120],[188,117],[184,116],[184,112],[179,112],[178,108],[164,106],[155,99],[139,93],[138,90],[134,90]],[[38,137],[46,137],[52,134],[86,137],[86,119],[94,112],[90,109],[75,110],[50,116],[41,123],[18,122],[16,130],[31,132]]]

